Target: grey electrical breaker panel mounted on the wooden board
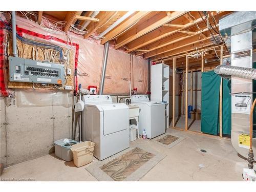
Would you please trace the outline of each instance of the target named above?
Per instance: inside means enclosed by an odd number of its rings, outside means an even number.
[[[10,81],[64,84],[64,65],[20,57],[9,58]]]

